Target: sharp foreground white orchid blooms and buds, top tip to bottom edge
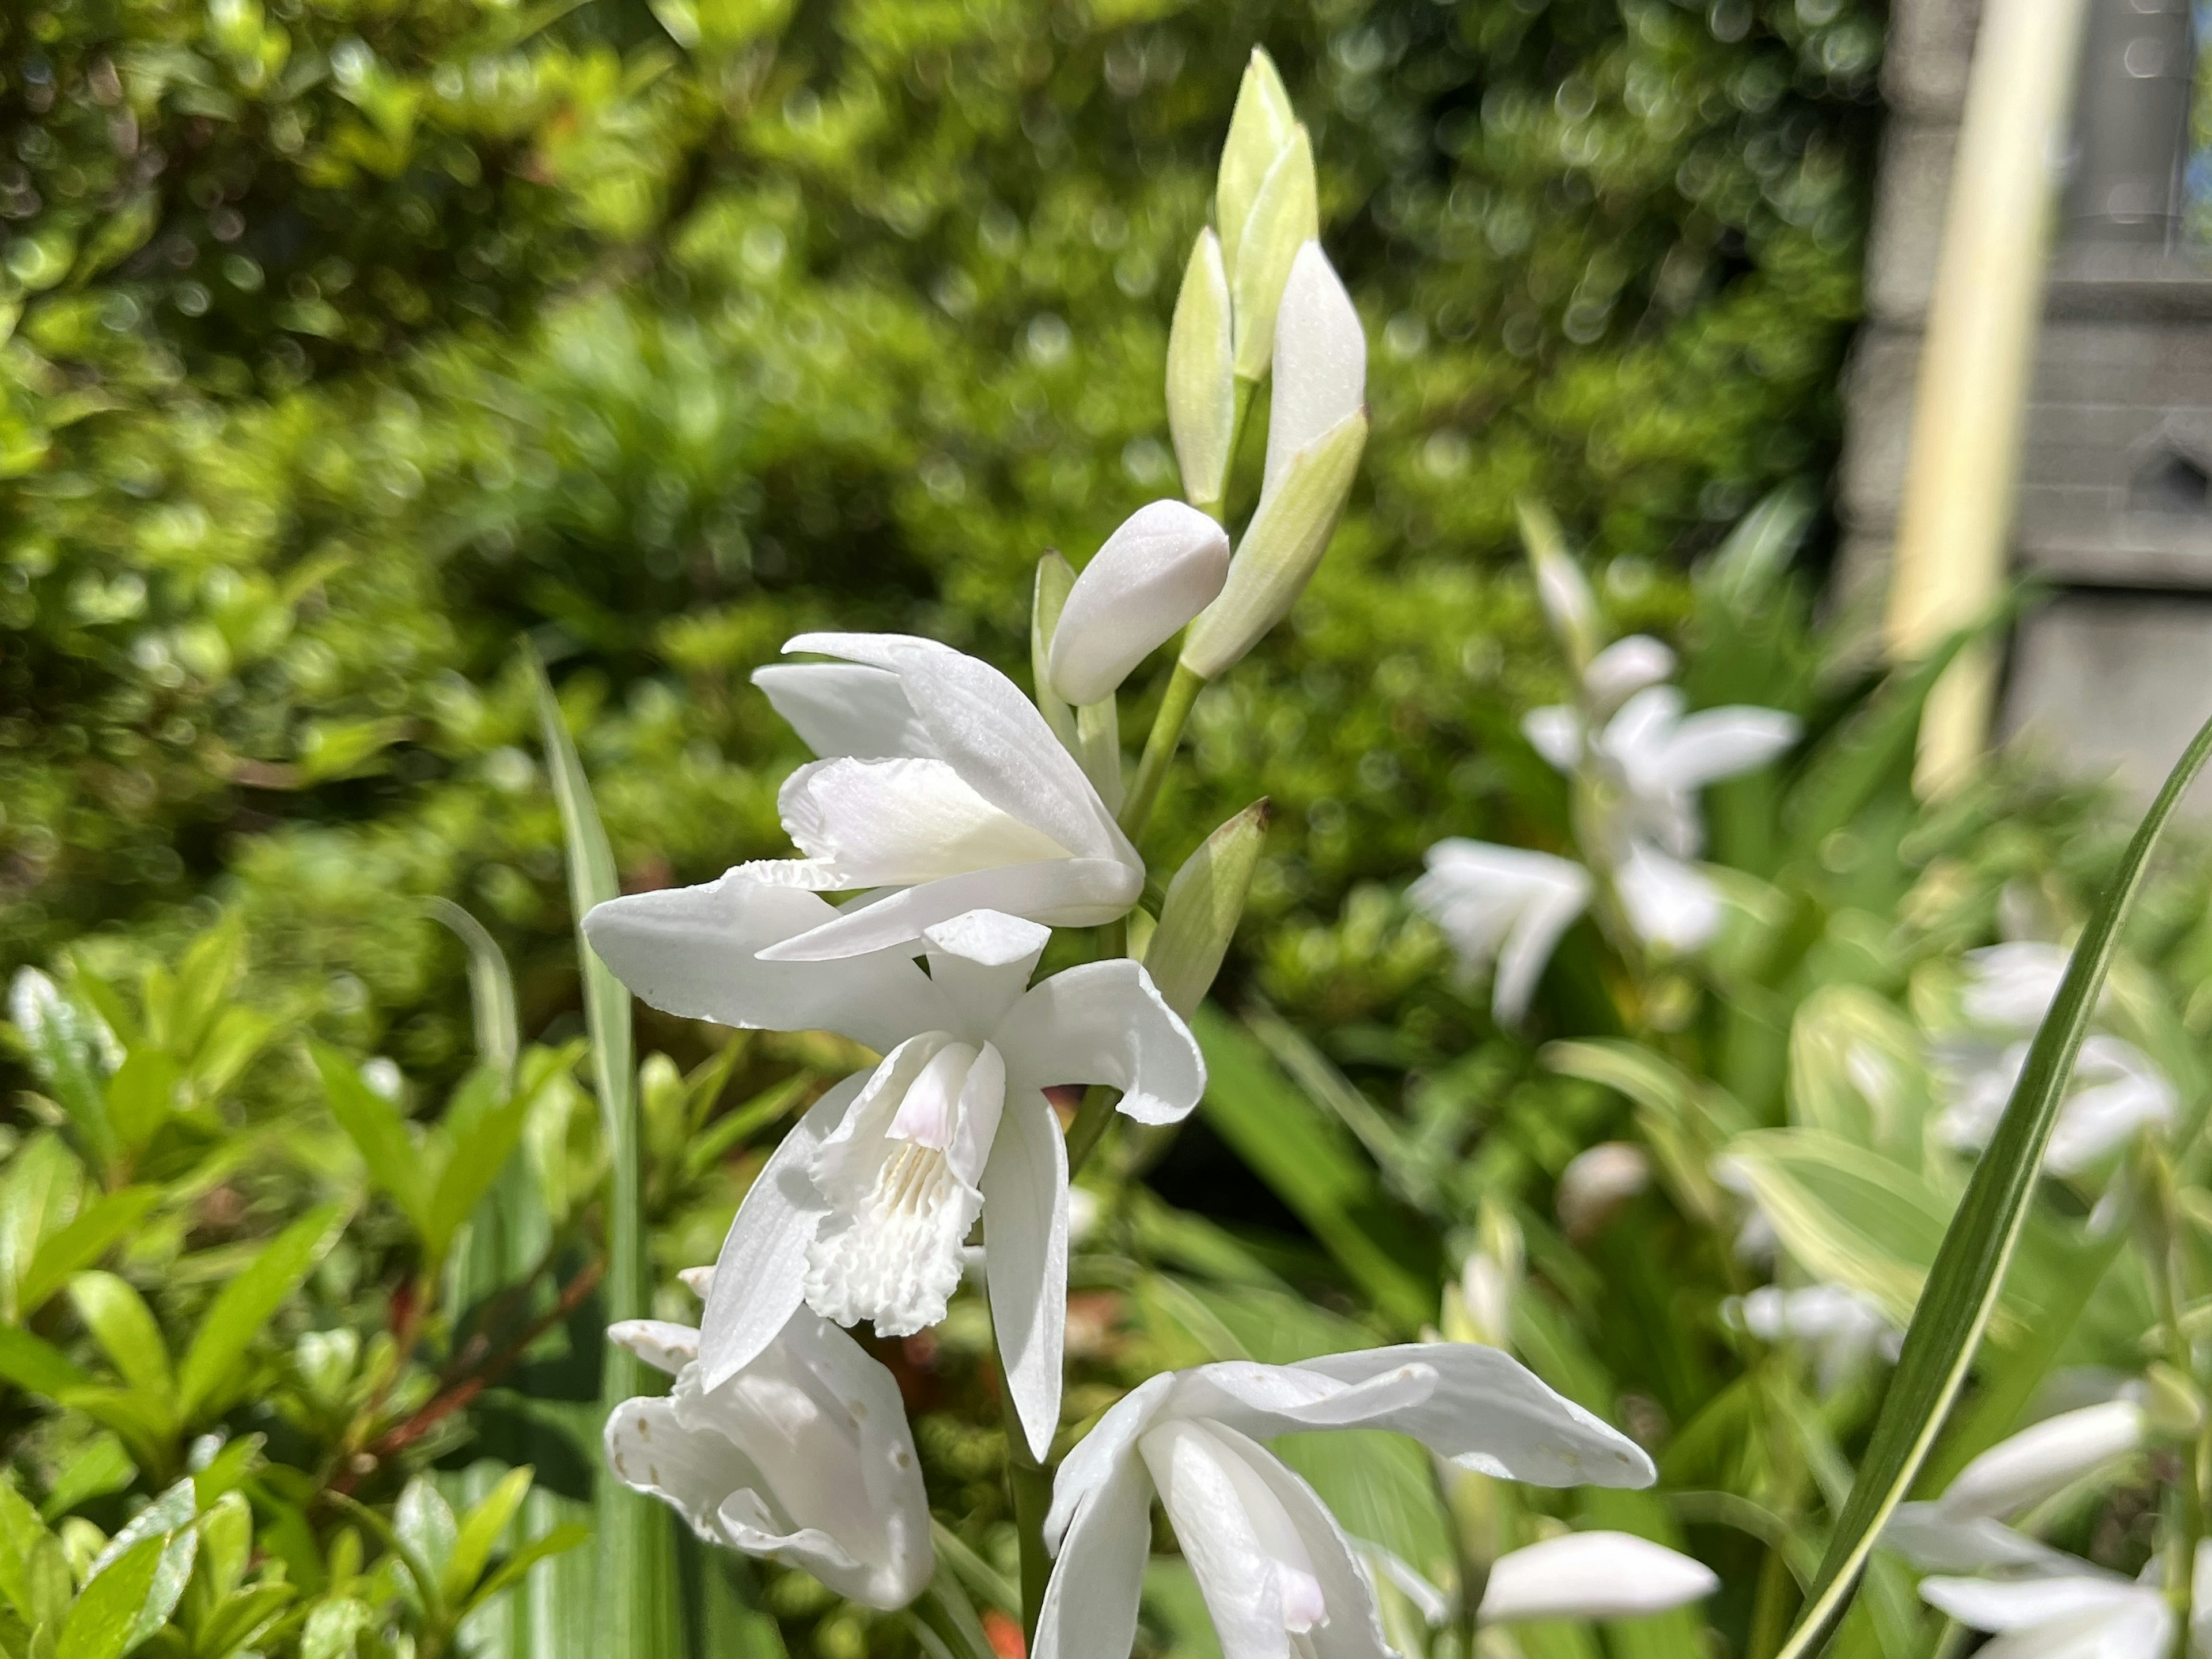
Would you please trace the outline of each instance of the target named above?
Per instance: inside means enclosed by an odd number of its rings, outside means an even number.
[[[827,1029],[880,1055],[812,1106],[745,1194],[717,1265],[688,1276],[706,1298],[699,1329],[611,1332],[675,1387],[606,1425],[615,1473],[703,1540],[878,1608],[931,1584],[929,1506],[891,1374],[838,1327],[902,1336],[942,1321],[980,1225],[1020,1438],[1051,1458],[1071,1141],[1044,1091],[1106,1086],[1141,1124],[1199,1104],[1206,1062],[1183,1013],[1221,960],[1263,825],[1241,814],[1183,867],[1146,960],[1035,980],[1053,927],[1119,929],[1146,889],[1135,841],[1155,750],[1172,754],[1177,730],[1161,743],[1155,728],[1124,787],[1115,690],[1179,633],[1170,706],[1181,686],[1188,710],[1194,686],[1243,657],[1312,575],[1365,442],[1360,321],[1314,241],[1312,146],[1263,55],[1237,102],[1217,206],[1219,234],[1199,237],[1170,338],[1188,500],[1135,513],[1079,577],[1057,557],[1040,566],[1035,699],[929,639],[801,635],[787,650],[805,661],[754,675],[818,757],[781,794],[801,856],[617,898],[584,925],[657,1009]],[[1232,551],[1217,515],[1270,374],[1259,504]],[[1650,796],[1677,827],[1639,830],[1677,852],[1683,776],[1666,772]],[[1157,1376],[1060,1467],[1035,1652],[1128,1652],[1159,1498],[1230,1659],[1383,1659],[1367,1568],[1263,1444],[1349,1427],[1396,1429],[1464,1469],[1546,1486],[1652,1480],[1641,1449],[1495,1347]],[[1577,1535],[1500,1559],[1480,1615],[1613,1615],[1710,1588],[1710,1573],[1655,1544]]]

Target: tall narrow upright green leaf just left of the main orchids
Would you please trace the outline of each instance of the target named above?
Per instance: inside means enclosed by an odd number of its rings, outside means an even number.
[[[591,799],[584,763],[577,759],[544,664],[529,659],[538,692],[538,723],[546,748],[546,770],[560,803],[562,843],[568,860],[568,905],[575,922],[575,956],[584,978],[584,1024],[591,1031],[591,1071],[599,1088],[599,1113],[608,1146],[608,1241],[606,1318],[644,1318],[653,1312],[646,1256],[644,1152],[637,1121],[637,1051],[630,1035],[630,993],[593,956],[584,940],[584,916],[615,898],[615,852]],[[644,1360],[613,1349],[602,1369],[602,1405],[650,1391]],[[679,1646],[675,1533],[668,1509],[602,1473],[597,1491],[599,1606],[595,1652],[602,1659],[664,1659]]]

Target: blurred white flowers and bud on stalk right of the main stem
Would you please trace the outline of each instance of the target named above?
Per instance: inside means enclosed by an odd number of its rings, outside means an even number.
[[[1597,599],[1573,560],[1531,526],[1535,588],[1575,670],[1577,701],[1528,710],[1531,748],[1575,785],[1582,863],[1451,836],[1429,847],[1407,889],[1469,975],[1495,971],[1491,1011],[1517,1024],[1566,929],[1599,894],[1644,947],[1697,951],[1721,925],[1721,896],[1697,867],[1699,792],[1765,765],[1798,737],[1792,714],[1730,706],[1686,712],[1666,684],[1674,653],[1648,635],[1599,648]]]

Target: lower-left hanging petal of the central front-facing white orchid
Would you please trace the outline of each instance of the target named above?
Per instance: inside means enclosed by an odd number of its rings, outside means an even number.
[[[841,1079],[783,1137],[714,1259],[714,1285],[699,1316],[699,1376],[721,1387],[752,1365],[805,1301],[807,1248],[830,1206],[814,1186],[814,1159],[874,1073]]]

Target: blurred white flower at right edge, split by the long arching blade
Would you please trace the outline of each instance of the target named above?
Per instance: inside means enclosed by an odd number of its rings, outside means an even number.
[[[1960,1006],[1982,1031],[1931,1044],[1947,1099],[1936,1133],[1947,1146],[1966,1152],[1989,1146],[2026,1066],[2033,1033],[2057,998],[2066,960],[2064,947],[2037,942],[1966,953]],[[2057,1177],[2081,1175],[2141,1128],[2172,1126],[2179,1104],[2172,1082],[2150,1055],[2110,1033],[2093,1033],[2081,1042],[2066,1084],[2044,1168]]]

